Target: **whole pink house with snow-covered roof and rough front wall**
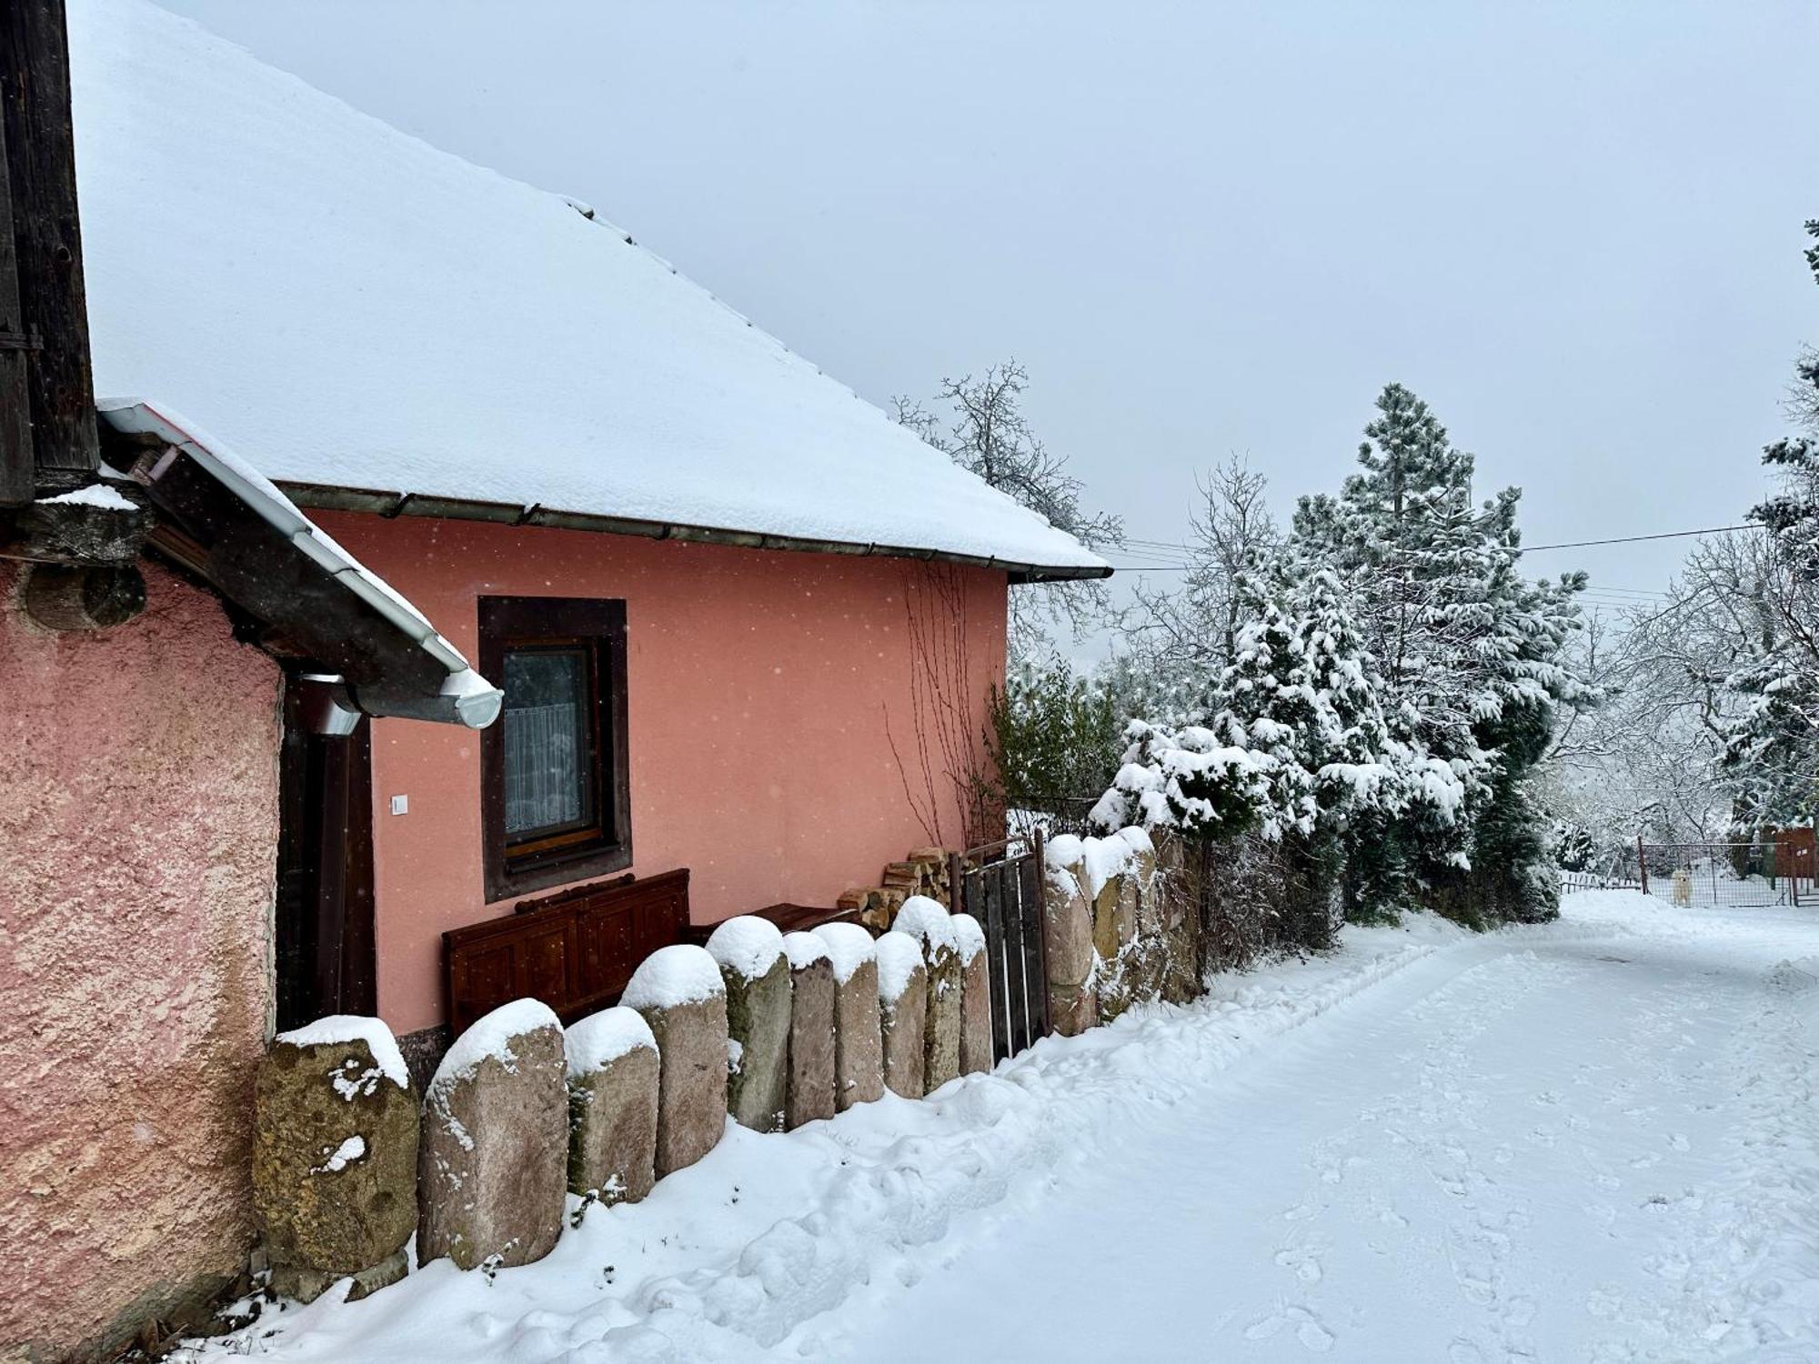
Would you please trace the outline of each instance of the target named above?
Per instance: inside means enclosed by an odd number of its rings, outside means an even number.
[[[1108,571],[584,206],[144,0],[69,0],[69,55],[76,269],[15,165],[44,347],[0,351],[25,1360],[244,1269],[275,1026],[377,1013],[424,1068],[451,988],[593,998],[682,906],[960,846],[1006,593]]]

